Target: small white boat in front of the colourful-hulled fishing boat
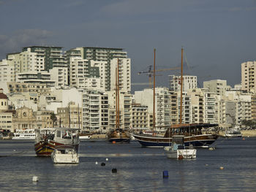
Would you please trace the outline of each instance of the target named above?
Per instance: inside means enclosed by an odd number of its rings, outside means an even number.
[[[54,164],[78,164],[79,155],[72,145],[59,145],[50,154]]]

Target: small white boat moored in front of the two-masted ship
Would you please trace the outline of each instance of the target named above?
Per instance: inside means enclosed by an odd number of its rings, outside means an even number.
[[[197,150],[192,145],[189,145],[188,149],[185,148],[183,135],[173,136],[171,145],[164,147],[164,150],[167,158],[183,159],[197,156]]]

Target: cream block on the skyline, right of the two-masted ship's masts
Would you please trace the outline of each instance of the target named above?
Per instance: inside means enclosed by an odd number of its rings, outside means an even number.
[[[203,82],[203,88],[208,89],[209,92],[217,93],[219,96],[225,96],[225,92],[231,89],[231,87],[227,85],[227,80],[205,81]]]

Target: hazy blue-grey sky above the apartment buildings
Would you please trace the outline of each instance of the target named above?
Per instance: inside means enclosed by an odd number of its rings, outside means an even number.
[[[123,48],[132,83],[148,82],[148,67],[241,83],[241,63],[256,60],[256,0],[0,0],[0,60],[22,47]],[[169,86],[157,72],[156,85]],[[132,92],[148,85],[132,86]]]

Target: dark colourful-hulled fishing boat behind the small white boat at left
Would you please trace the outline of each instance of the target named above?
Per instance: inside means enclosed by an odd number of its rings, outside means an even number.
[[[36,128],[34,150],[37,156],[50,156],[59,145],[72,145],[78,153],[79,128]]]

